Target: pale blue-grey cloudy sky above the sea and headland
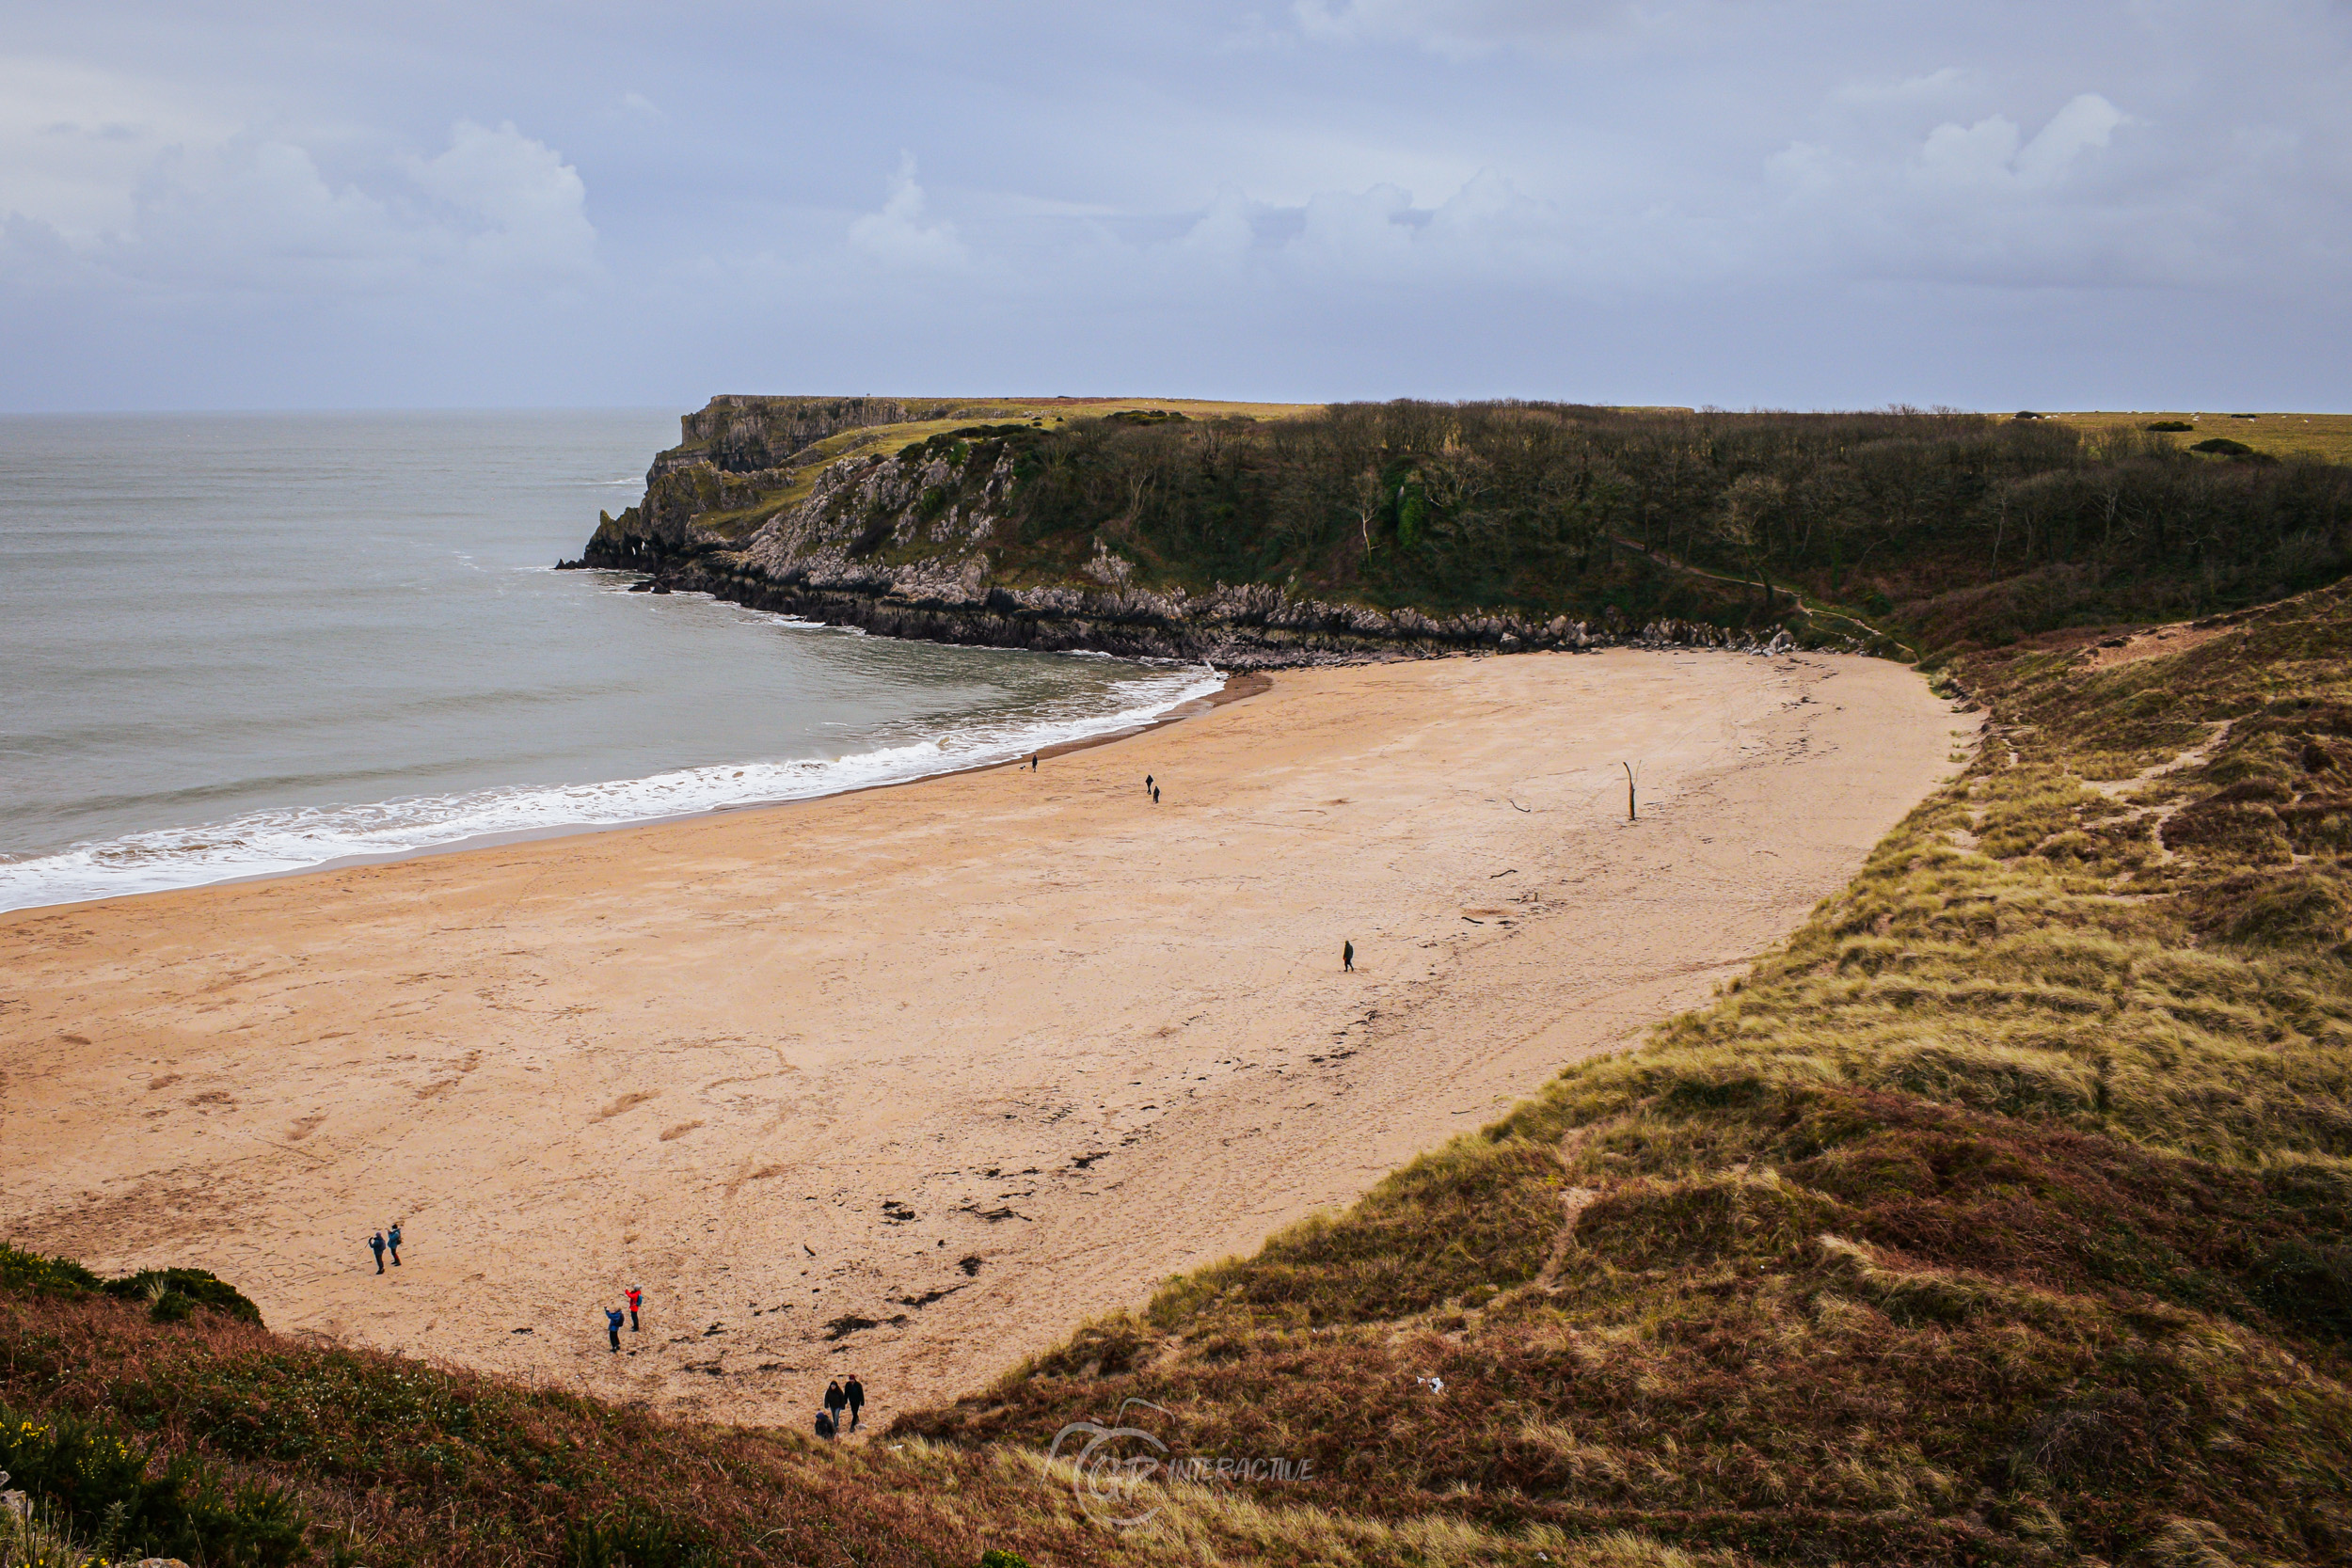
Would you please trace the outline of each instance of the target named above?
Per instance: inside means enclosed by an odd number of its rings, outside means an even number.
[[[2352,0],[0,0],[0,411],[2352,409]]]

